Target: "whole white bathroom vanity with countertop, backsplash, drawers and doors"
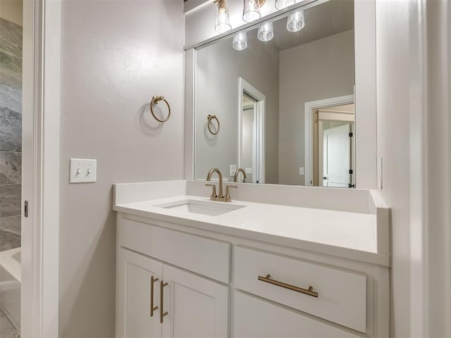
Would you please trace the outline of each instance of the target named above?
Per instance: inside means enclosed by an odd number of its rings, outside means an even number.
[[[116,337],[388,337],[376,192],[204,184],[115,184]]]

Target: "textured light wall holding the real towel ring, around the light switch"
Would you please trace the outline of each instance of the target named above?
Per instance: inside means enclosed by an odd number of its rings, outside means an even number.
[[[183,1],[65,0],[61,15],[60,337],[113,337],[111,184],[183,178]],[[70,157],[97,158],[97,182],[68,184]]]

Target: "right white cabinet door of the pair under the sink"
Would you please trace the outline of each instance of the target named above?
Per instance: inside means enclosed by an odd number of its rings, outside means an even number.
[[[163,265],[163,337],[228,337],[228,286]]]

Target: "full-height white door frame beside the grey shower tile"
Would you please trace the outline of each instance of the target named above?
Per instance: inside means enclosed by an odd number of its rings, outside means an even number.
[[[58,337],[60,65],[61,0],[23,1],[22,337]]]

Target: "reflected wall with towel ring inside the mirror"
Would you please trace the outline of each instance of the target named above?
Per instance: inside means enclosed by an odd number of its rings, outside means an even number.
[[[195,178],[204,179],[217,167],[229,177],[230,164],[238,161],[239,77],[266,96],[266,183],[278,182],[278,50],[247,35],[245,51],[235,51],[227,39],[197,51]],[[269,45],[271,46],[271,44]],[[221,130],[206,129],[206,115],[216,115]],[[229,177],[233,179],[233,177]]]

